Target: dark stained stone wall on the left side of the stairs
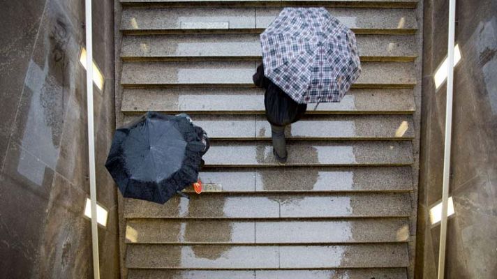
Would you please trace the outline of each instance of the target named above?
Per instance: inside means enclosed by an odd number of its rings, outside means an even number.
[[[113,1],[94,1],[102,278],[119,277],[117,193],[103,164],[114,130]],[[3,1],[0,9],[0,274],[91,278],[84,0]]]

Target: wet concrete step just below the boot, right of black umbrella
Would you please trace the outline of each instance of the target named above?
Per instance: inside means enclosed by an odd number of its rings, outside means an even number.
[[[406,192],[410,167],[214,168],[200,172],[204,193]],[[186,192],[193,192],[187,188]]]

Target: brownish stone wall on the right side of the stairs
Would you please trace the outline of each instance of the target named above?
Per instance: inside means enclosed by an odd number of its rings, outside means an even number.
[[[445,95],[433,74],[447,54],[446,0],[424,1],[424,67],[417,278],[436,278],[440,225],[428,211],[442,195]],[[497,278],[497,1],[457,1],[454,117],[446,278]]]

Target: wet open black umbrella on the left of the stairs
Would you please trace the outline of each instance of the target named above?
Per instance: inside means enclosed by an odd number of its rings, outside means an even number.
[[[163,204],[198,180],[208,145],[186,114],[147,112],[117,129],[105,167],[124,197]]]

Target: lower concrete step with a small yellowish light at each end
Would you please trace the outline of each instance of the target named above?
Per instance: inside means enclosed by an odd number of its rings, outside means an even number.
[[[292,221],[131,219],[126,223],[126,243],[385,243],[406,242],[408,238],[407,218]]]

